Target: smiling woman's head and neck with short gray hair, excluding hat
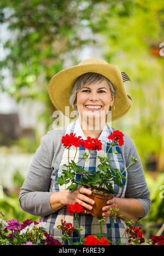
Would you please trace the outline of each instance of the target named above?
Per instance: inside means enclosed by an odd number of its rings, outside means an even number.
[[[80,124],[86,136],[90,135],[90,130],[92,137],[99,137],[115,97],[112,82],[99,73],[85,73],[75,81],[69,102],[74,110],[78,110]]]

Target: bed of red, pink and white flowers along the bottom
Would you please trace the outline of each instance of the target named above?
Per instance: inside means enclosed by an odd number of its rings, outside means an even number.
[[[75,215],[76,220],[79,218],[79,213],[84,211],[84,208],[80,204],[68,204],[67,211],[72,215]],[[116,218],[121,217],[117,215],[119,209],[117,207],[112,207],[106,214],[113,217],[113,222]],[[2,217],[3,213],[0,212]],[[96,235],[86,236],[81,238],[81,227],[78,225],[77,220],[77,230],[79,232],[80,241],[73,244],[69,243],[70,235],[74,232],[74,227],[72,223],[66,223],[66,221],[61,220],[61,225],[58,225],[58,229],[61,231],[61,242],[54,239],[48,231],[47,224],[42,219],[39,222],[32,220],[25,220],[19,223],[19,220],[11,219],[5,221],[0,218],[0,245],[65,245],[67,241],[69,245],[110,245],[112,241],[108,240],[109,233],[112,229],[110,227],[107,237],[104,237],[101,233],[102,223],[105,221],[106,217],[98,217],[99,221],[99,233]],[[152,236],[148,241],[145,241],[143,237],[142,227],[136,227],[133,220],[125,221],[126,229],[122,237],[127,234],[127,243],[121,243],[120,240],[116,245],[164,245],[164,236]]]

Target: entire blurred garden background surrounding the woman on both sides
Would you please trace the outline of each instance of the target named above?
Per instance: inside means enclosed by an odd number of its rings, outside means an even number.
[[[5,197],[4,189],[2,211],[8,205],[4,200],[17,203],[20,185],[16,180],[21,179],[18,174],[11,179],[13,173],[19,170],[24,180],[40,138],[52,129],[55,107],[48,96],[51,77],[86,58],[96,57],[118,65],[131,78],[132,82],[125,83],[133,100],[131,111],[112,126],[131,136],[145,170],[152,204],[148,216],[139,223],[147,235],[162,225],[163,27],[162,0],[0,0],[0,185],[10,191]],[[9,103],[14,100],[17,116],[13,107],[2,111],[5,95]],[[23,167],[22,159],[26,163]],[[13,191],[17,191],[14,196]],[[17,212],[24,217],[18,203],[15,210],[8,207],[6,214],[14,216]]]

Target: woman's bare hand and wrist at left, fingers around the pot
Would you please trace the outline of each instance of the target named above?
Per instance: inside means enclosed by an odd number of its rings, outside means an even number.
[[[86,189],[85,187],[78,187],[78,189],[74,191],[61,191],[61,192],[52,192],[50,196],[50,205],[52,210],[57,211],[63,206],[67,206],[68,203],[74,204],[78,202],[86,209],[91,210],[92,206],[90,204],[94,204],[91,198],[87,197],[87,195],[91,195],[92,191]],[[84,212],[86,213],[86,211]]]

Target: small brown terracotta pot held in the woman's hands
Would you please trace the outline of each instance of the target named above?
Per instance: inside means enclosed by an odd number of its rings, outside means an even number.
[[[92,204],[91,210],[86,209],[86,213],[88,214],[90,213],[93,216],[102,217],[102,213],[103,213],[102,208],[107,205],[107,201],[111,199],[114,195],[111,194],[109,196],[105,196],[97,192],[92,192],[91,195],[87,195],[87,196],[90,197],[92,200],[94,200],[95,204]]]

